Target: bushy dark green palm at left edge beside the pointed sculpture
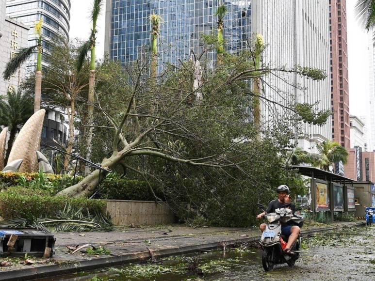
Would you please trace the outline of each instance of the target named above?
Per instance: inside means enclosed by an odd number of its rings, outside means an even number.
[[[16,134],[33,115],[33,103],[28,94],[8,92],[0,100],[0,125],[7,126],[10,132],[5,163],[8,161]]]

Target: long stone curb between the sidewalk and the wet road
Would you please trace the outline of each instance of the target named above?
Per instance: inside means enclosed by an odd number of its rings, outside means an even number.
[[[363,222],[355,222],[352,224],[338,225],[338,226],[329,226],[324,228],[315,228],[310,230],[301,231],[302,234],[310,234],[316,232],[326,232],[334,229],[341,229],[347,226],[361,226],[364,225]],[[155,257],[167,257],[172,255],[181,255],[196,252],[199,250],[209,250],[217,249],[221,247],[221,243],[226,243],[227,246],[252,242],[259,239],[259,235],[252,237],[244,237],[232,240],[217,241],[211,243],[202,243],[196,244],[193,246],[183,246],[176,248],[167,248],[162,250],[153,250]],[[141,262],[151,258],[149,251],[136,252],[124,254],[121,256],[110,256],[103,258],[96,258],[92,260],[85,260],[82,262],[71,262],[60,265],[44,265],[39,267],[24,268],[11,271],[0,272],[1,281],[26,281],[26,280],[35,280],[39,278],[46,278],[52,276],[59,276],[79,271],[87,271],[92,269],[98,269],[108,266],[116,265],[125,265],[134,262]]]

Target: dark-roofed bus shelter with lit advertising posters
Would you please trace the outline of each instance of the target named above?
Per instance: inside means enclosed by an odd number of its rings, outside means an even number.
[[[335,214],[355,211],[355,180],[315,167],[292,166],[292,169],[310,177],[313,218],[333,221]]]

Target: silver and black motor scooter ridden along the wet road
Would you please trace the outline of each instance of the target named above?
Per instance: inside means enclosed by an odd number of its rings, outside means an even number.
[[[290,256],[284,252],[288,237],[281,234],[281,223],[286,223],[291,219],[296,224],[302,221],[301,218],[293,216],[292,210],[288,209],[290,204],[286,203],[284,208],[276,209],[275,213],[269,213],[264,216],[268,223],[259,242],[263,249],[262,265],[265,271],[271,271],[276,264],[287,263],[289,266],[293,266],[299,258],[299,253],[301,252],[301,235],[298,236],[298,239],[291,247],[295,255]],[[257,205],[265,212],[262,204]]]

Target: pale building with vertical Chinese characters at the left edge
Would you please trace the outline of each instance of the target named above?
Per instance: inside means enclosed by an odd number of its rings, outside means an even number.
[[[5,0],[0,0],[0,95],[8,91],[16,92],[25,74],[25,67],[13,75],[9,80],[2,78],[2,72],[8,61],[13,58],[18,50],[28,46],[29,27],[15,20],[5,17]],[[26,66],[26,65],[25,65]]]

